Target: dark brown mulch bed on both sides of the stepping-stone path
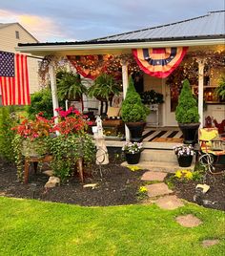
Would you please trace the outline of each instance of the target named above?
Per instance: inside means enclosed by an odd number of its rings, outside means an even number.
[[[120,165],[121,160],[111,158],[108,165],[93,165],[86,170],[85,183],[97,183],[92,189],[84,188],[78,175],[66,184],[45,189],[49,177],[41,172],[30,172],[29,184],[16,179],[16,168],[0,160],[0,196],[37,199],[57,203],[74,203],[84,206],[106,206],[139,203],[136,192],[143,185],[140,177],[146,171],[132,172]],[[168,175],[167,179],[170,177]],[[203,197],[196,197],[195,186],[199,181],[174,181],[174,194],[189,202],[219,210],[225,210],[225,175],[207,175],[211,186]],[[195,200],[194,200],[195,197]]]

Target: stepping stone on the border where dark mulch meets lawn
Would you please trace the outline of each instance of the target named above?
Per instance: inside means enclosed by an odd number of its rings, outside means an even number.
[[[184,206],[184,203],[181,202],[175,195],[165,196],[160,199],[157,199],[155,203],[162,209],[174,210],[178,207]]]

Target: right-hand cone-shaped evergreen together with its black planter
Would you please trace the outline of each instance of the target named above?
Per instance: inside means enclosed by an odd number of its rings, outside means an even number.
[[[192,95],[188,79],[183,82],[183,87],[175,109],[175,119],[183,133],[185,144],[194,144],[197,141],[197,130],[200,125],[197,102]]]

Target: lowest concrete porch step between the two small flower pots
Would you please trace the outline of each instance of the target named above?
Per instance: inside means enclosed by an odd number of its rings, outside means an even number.
[[[194,162],[194,161],[193,161]],[[127,161],[121,163],[122,166],[132,165],[128,164]],[[176,163],[168,162],[168,161],[147,161],[140,160],[137,164],[133,164],[139,166],[142,169],[151,170],[154,172],[166,172],[166,173],[175,173],[177,170],[189,169],[194,171],[194,163],[190,167],[180,167],[176,161]]]

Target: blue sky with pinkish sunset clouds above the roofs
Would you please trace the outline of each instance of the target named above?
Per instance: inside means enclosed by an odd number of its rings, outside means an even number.
[[[224,0],[0,0],[0,23],[40,42],[81,41],[225,10]]]

